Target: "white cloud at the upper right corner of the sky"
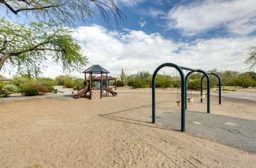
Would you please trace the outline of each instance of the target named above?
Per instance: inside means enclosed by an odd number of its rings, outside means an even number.
[[[173,8],[167,19],[169,29],[180,29],[185,36],[219,28],[247,35],[256,30],[256,4],[255,0],[196,1]]]

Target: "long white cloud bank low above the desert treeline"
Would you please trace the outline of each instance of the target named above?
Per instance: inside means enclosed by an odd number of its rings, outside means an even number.
[[[159,33],[125,29],[124,33],[108,32],[102,26],[78,27],[73,37],[86,50],[90,65],[99,64],[111,72],[120,73],[121,68],[130,73],[148,70],[151,73],[161,64],[171,62],[191,68],[209,70],[246,69],[245,54],[256,44],[256,37],[197,39],[192,42],[174,42]],[[50,65],[44,76],[62,74],[61,65]],[[87,67],[87,68],[88,68]],[[172,72],[171,68],[165,71]],[[5,74],[9,76],[8,74]],[[82,73],[73,75],[83,77]]]

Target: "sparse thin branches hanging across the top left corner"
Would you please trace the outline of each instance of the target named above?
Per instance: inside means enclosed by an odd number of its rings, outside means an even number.
[[[7,14],[32,17],[39,22],[75,25],[76,21],[91,20],[96,8],[108,27],[125,21],[115,0],[0,0],[0,4]]]

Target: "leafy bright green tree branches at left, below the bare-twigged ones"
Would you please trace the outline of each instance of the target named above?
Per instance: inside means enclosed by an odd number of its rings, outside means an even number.
[[[88,63],[70,30],[48,23],[0,22],[0,70],[16,67],[19,73],[37,76],[48,60],[62,63],[64,72],[79,71]]]

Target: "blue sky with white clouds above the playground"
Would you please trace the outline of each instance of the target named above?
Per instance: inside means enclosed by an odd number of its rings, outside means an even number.
[[[73,34],[86,51],[90,65],[100,64],[113,76],[121,68],[127,73],[153,73],[166,62],[242,72],[247,68],[243,62],[249,47],[256,46],[255,0],[116,2],[127,18],[119,30],[106,29],[96,12],[91,24],[78,23]],[[44,76],[62,73],[61,65],[46,65],[49,68]]]

